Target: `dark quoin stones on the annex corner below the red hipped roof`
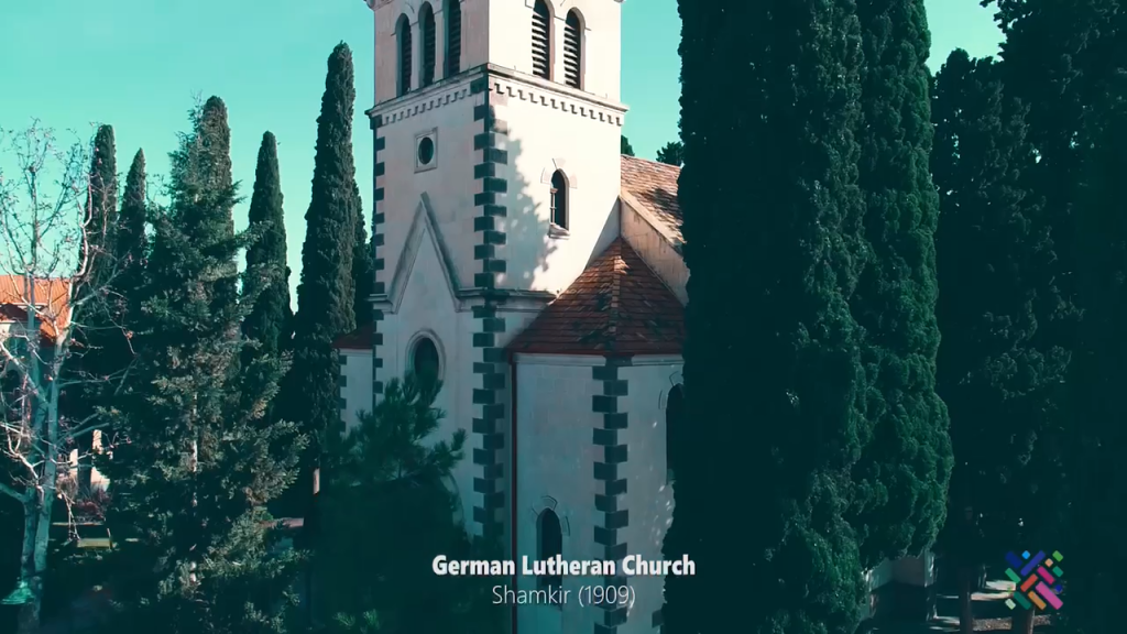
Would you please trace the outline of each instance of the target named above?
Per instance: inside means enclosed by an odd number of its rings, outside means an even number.
[[[625,434],[628,415],[620,412],[619,398],[629,395],[629,384],[621,378],[619,368],[629,367],[629,358],[607,356],[606,363],[592,368],[591,378],[601,382],[602,394],[591,397],[591,411],[600,414],[601,424],[596,424],[592,433],[592,444],[595,455],[602,456],[595,463],[595,510],[601,519],[595,520],[595,544],[603,547],[605,561],[616,562],[620,566],[627,556],[629,547],[620,531],[630,526],[630,512],[627,509],[627,473],[629,447]],[[607,584],[621,584],[620,578],[607,576]],[[618,626],[627,622],[627,608],[620,606],[603,606],[603,623],[595,624],[595,634],[616,634]]]

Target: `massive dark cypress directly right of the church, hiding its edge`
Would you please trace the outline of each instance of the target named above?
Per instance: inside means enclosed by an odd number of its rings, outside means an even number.
[[[866,595],[843,518],[863,390],[846,296],[862,212],[854,2],[678,10],[685,399],[710,431],[685,439],[674,484],[665,557],[687,554],[696,574],[666,579],[665,628],[853,634]],[[731,521],[719,492],[734,486],[755,487],[754,521]],[[756,600],[709,598],[736,585]]]

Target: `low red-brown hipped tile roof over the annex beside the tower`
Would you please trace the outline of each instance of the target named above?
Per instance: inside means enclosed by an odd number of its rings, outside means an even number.
[[[684,307],[618,238],[508,344],[536,354],[681,354]]]

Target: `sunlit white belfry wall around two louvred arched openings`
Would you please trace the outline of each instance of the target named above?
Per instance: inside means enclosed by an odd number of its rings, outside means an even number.
[[[489,9],[489,62],[532,74],[534,0],[494,0]],[[552,14],[552,80],[564,82],[564,23],[577,10],[583,29],[583,90],[619,100],[622,7],[611,0],[549,0]],[[464,5],[463,5],[464,7]]]

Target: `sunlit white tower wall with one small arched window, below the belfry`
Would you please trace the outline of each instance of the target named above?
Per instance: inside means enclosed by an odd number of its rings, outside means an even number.
[[[497,117],[508,125],[507,135],[497,139],[508,151],[508,165],[498,166],[508,182],[507,217],[498,223],[506,244],[497,248],[507,272],[497,285],[559,292],[618,237],[622,112],[562,96],[532,79],[496,76],[490,93]],[[569,183],[566,238],[549,236],[557,169]]]

